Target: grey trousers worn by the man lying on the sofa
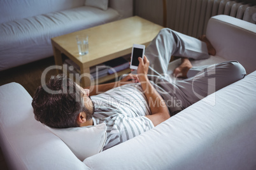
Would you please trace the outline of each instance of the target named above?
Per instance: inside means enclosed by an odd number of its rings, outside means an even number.
[[[172,55],[193,58],[208,58],[206,44],[194,37],[171,29],[162,29],[146,48],[145,55],[153,70],[166,74]],[[164,98],[171,115],[196,103],[204,97],[245,77],[244,67],[236,62],[222,62],[215,65],[192,67],[188,78],[170,82],[164,76],[148,75],[152,84]]]

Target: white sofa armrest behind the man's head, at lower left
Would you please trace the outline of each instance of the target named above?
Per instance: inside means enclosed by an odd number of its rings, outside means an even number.
[[[34,119],[31,101],[20,84],[0,86],[0,146],[9,169],[89,169]]]

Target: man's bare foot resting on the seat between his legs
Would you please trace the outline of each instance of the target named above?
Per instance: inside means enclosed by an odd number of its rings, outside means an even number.
[[[181,58],[181,64],[179,67],[174,69],[173,74],[177,78],[187,78],[188,70],[192,68],[192,64],[188,58]]]

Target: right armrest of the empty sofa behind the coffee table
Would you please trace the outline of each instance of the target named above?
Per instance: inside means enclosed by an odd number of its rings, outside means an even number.
[[[133,15],[132,0],[110,0],[109,7],[118,11],[120,19]]]

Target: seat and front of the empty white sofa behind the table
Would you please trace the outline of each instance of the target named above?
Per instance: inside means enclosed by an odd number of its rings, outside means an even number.
[[[118,18],[118,12],[112,8],[103,11],[82,6],[2,23],[0,70],[32,62],[35,56],[41,59],[53,55],[52,37],[101,25]],[[40,52],[42,55],[38,55]],[[13,56],[10,56],[10,53]]]

